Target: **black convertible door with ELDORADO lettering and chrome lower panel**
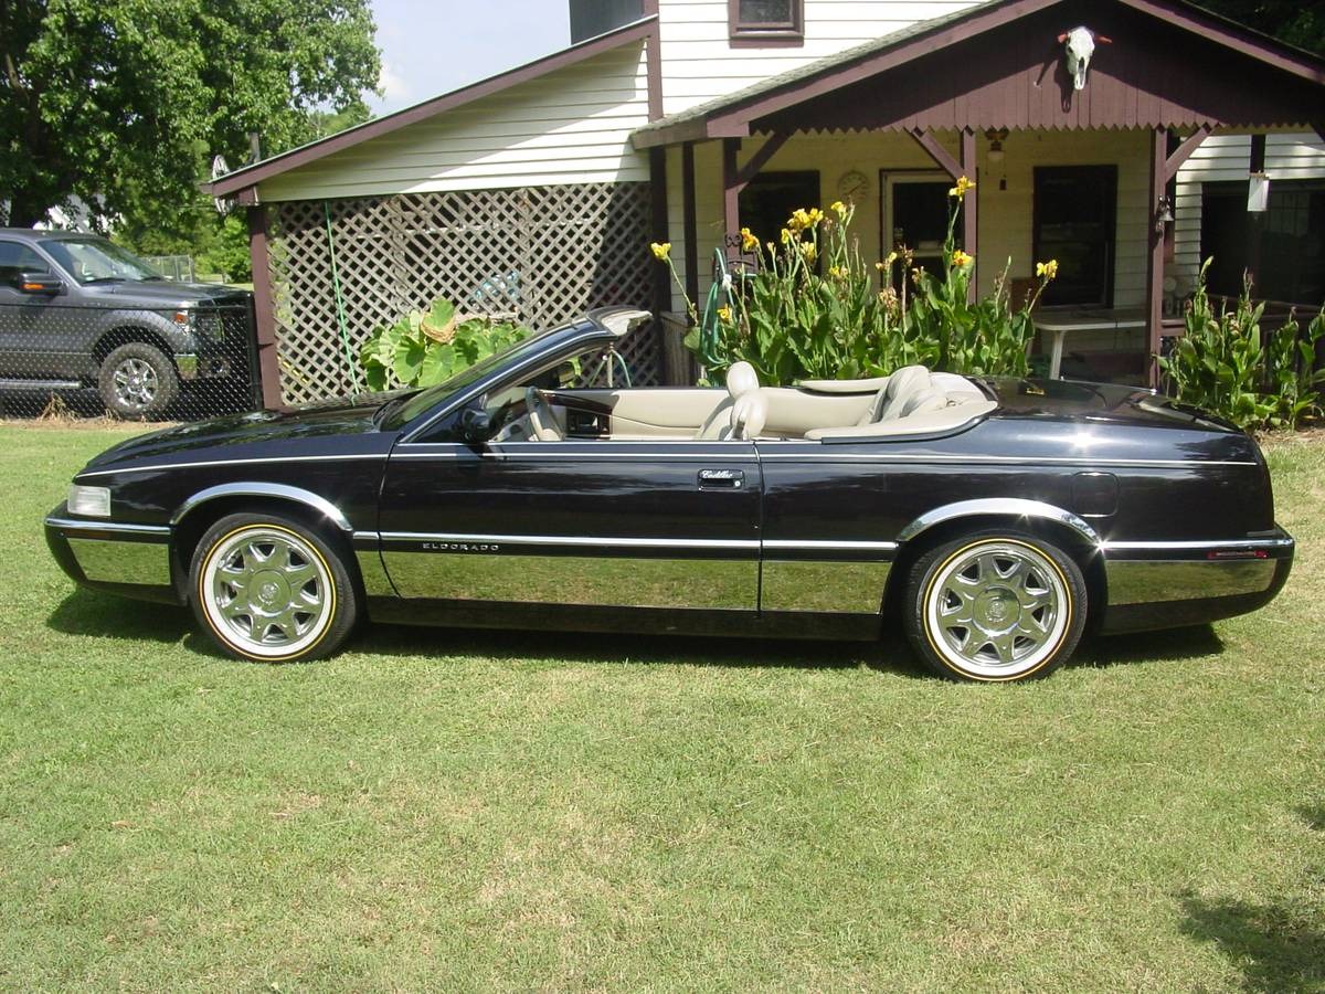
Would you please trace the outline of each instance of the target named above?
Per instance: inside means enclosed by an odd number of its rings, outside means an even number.
[[[749,441],[403,441],[379,516],[407,599],[754,612]]]

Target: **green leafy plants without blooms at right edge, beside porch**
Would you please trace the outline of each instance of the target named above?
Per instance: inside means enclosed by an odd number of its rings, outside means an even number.
[[[1186,333],[1159,359],[1169,392],[1246,429],[1296,428],[1304,416],[1318,417],[1317,387],[1325,382],[1325,370],[1317,362],[1317,343],[1325,337],[1325,309],[1305,334],[1293,315],[1263,335],[1265,305],[1252,304],[1249,280],[1231,309],[1224,304],[1215,311],[1206,292],[1211,261],[1202,265],[1187,305]]]

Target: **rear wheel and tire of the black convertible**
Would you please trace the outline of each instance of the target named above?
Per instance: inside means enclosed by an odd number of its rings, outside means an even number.
[[[1076,649],[1086,588],[1071,555],[1036,535],[980,531],[920,558],[906,588],[906,635],[950,680],[1044,676]]]

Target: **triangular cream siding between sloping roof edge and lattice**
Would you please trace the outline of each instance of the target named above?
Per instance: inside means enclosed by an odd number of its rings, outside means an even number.
[[[633,42],[262,183],[262,200],[648,182],[629,143],[648,122]]]

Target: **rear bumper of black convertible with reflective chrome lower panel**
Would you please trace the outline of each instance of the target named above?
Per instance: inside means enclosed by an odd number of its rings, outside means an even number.
[[[1177,628],[1255,611],[1293,566],[1281,527],[1224,542],[1106,542],[1104,632]]]

